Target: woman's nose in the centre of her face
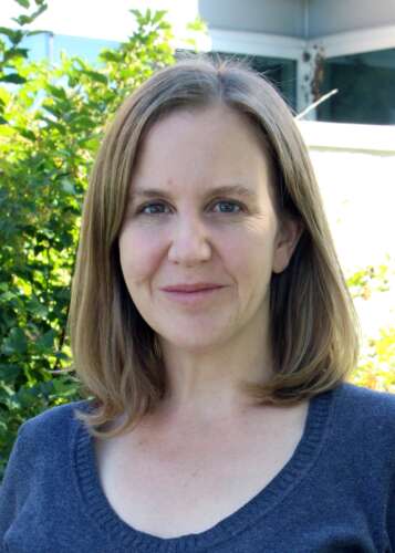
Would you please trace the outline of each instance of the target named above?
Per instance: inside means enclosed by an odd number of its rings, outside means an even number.
[[[195,265],[208,261],[211,247],[207,228],[198,217],[184,217],[175,223],[168,259],[174,263]]]

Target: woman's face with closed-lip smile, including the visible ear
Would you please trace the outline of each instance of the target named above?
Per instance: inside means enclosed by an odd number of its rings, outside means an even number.
[[[150,128],[119,254],[131,298],[160,340],[207,351],[267,330],[271,274],[287,267],[297,233],[280,226],[270,187],[262,144],[229,107],[179,109]],[[219,288],[164,290],[199,283]]]

